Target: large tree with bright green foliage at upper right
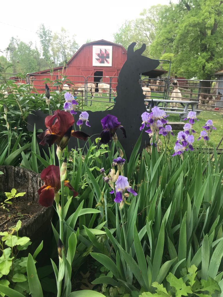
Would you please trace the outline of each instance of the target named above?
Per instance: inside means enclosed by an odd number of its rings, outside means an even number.
[[[223,1],[180,0],[161,15],[151,54],[172,53],[176,75],[210,80],[223,67],[222,26]],[[202,82],[202,86],[210,83]]]

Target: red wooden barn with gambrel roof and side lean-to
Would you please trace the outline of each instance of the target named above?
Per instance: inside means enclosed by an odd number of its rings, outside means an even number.
[[[65,67],[53,68],[52,74],[51,69],[46,69],[30,73],[29,76],[34,76],[34,87],[40,93],[45,91],[46,78],[56,80],[62,76],[67,76],[71,84],[84,83],[85,80],[109,83],[110,80],[112,88],[116,88],[117,77],[126,57],[127,51],[122,45],[102,39],[82,45]]]

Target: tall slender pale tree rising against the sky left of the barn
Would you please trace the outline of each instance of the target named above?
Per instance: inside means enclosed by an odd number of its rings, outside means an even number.
[[[44,24],[41,24],[39,30],[37,31],[37,35],[42,46],[43,58],[50,65],[52,59],[52,55],[50,52],[52,31],[50,29],[46,29]]]

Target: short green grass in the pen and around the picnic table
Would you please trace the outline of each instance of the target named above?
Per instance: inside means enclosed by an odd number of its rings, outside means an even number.
[[[159,93],[154,93],[154,94],[157,94],[156,96],[161,96]],[[152,97],[152,94],[151,94],[151,97]],[[81,97],[79,97],[78,99],[81,99]],[[89,99],[90,99],[90,97],[89,97]],[[89,100],[89,99],[88,99],[88,106],[84,106],[83,110],[99,111],[99,110],[106,110],[107,108],[113,106],[113,99],[112,99],[112,102],[109,102],[108,97],[101,98],[101,97],[98,97],[98,94],[96,94],[96,96],[92,100],[91,106],[89,106],[90,102],[91,102],[91,100]],[[95,102],[94,100],[100,100],[102,102]],[[213,121],[213,125],[217,128],[217,130],[212,131],[211,138],[208,141],[208,146],[213,147],[213,144],[215,144],[215,146],[217,146],[220,139],[222,138],[222,135],[223,135],[223,132],[222,132],[223,131],[223,117],[222,116],[223,116],[223,112],[219,113],[219,112],[215,112],[215,111],[201,111],[199,116],[197,116],[199,121],[195,121],[195,124],[194,124],[194,130],[196,131],[196,134],[194,134],[194,139],[197,140],[197,138],[199,138],[200,131],[203,130],[202,126],[204,126],[206,121],[210,119]],[[168,117],[168,120],[170,122],[179,122],[180,117],[178,115],[170,115]],[[185,123],[186,123],[186,121],[185,121]],[[177,134],[177,132],[178,131],[175,131],[175,134]],[[202,144],[202,142],[203,142],[203,140],[199,140],[198,142],[195,142],[195,143],[197,146],[199,146],[200,144]],[[223,142],[221,143],[219,148],[223,149]]]

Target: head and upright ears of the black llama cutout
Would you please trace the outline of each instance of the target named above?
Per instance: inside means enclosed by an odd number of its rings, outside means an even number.
[[[123,65],[124,68],[129,69],[129,74],[131,76],[138,76],[140,73],[148,72],[158,67],[159,61],[142,56],[142,53],[146,49],[145,43],[141,48],[134,51],[135,45],[136,42],[133,42],[131,45],[129,45],[127,50],[127,60]]]

